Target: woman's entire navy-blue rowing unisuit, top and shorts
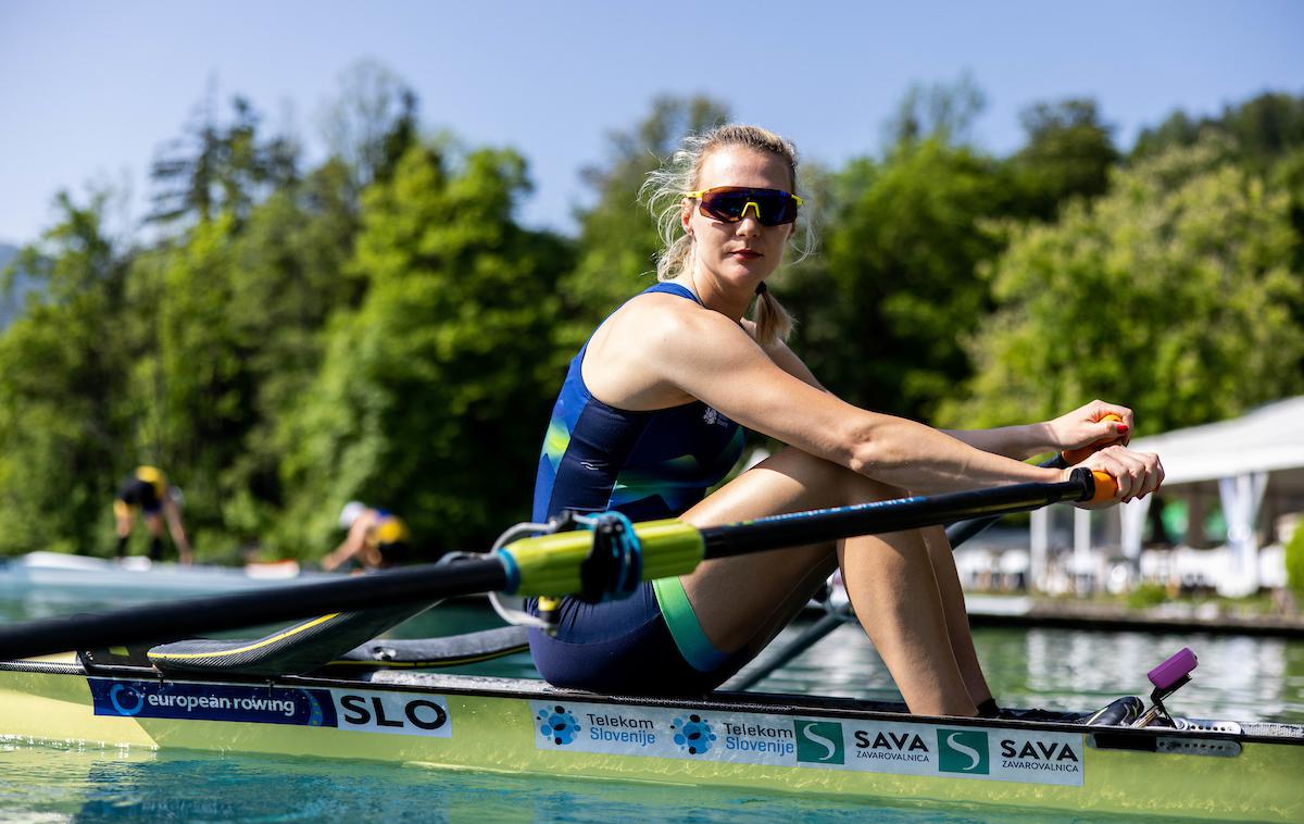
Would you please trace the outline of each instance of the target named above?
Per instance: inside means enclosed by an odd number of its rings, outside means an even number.
[[[699,302],[682,286],[665,292]],[[535,481],[535,522],[562,510],[617,510],[632,520],[674,518],[702,501],[742,454],[742,426],[700,400],[648,412],[618,409],[593,398],[582,364],[571,360],[544,438]],[[644,583],[627,598],[584,604],[563,598],[557,635],[529,632],[540,674],[578,690],[699,694],[742,666],[707,639],[679,584]]]

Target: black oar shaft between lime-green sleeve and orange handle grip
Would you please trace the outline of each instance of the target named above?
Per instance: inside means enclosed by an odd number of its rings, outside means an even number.
[[[1094,481],[1086,471],[1058,484],[1013,484],[927,498],[884,501],[836,510],[775,515],[751,522],[705,527],[707,558],[819,544],[855,535],[900,532],[964,518],[1026,512],[1060,501],[1091,497]]]

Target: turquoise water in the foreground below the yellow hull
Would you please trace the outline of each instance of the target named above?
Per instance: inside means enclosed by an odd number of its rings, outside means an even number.
[[[1004,808],[892,806],[837,798],[769,795],[762,790],[709,790],[592,782],[545,776],[441,772],[413,764],[308,758],[223,756],[37,744],[0,746],[5,820],[339,821],[421,820],[447,824],[609,824],[673,820],[943,821],[985,824],[1017,815],[1058,824],[1061,814]],[[1084,816],[1078,820],[1124,819]]]

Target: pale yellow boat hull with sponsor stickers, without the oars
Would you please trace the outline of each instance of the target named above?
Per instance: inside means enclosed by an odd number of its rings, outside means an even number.
[[[640,699],[526,679],[162,679],[133,666],[0,664],[0,733],[80,747],[372,759],[742,793],[1000,804],[1073,814],[1304,820],[1304,726],[1073,713],[910,716],[852,699]]]

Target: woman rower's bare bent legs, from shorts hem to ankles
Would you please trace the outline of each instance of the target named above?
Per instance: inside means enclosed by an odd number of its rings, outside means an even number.
[[[685,512],[713,525],[780,512],[901,497],[849,469],[785,449]],[[722,652],[759,652],[835,568],[911,712],[973,716],[952,653],[928,549],[918,531],[717,558],[681,579],[703,632]]]

